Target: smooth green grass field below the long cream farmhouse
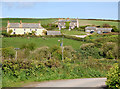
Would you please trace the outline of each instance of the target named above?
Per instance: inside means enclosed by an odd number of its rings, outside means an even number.
[[[58,40],[62,40],[62,38],[24,38],[24,37],[3,37],[2,38],[2,47],[15,47],[19,48],[23,44],[27,43],[35,43],[36,47],[48,46],[51,47],[53,45],[60,45]],[[74,49],[78,49],[83,42],[76,41],[72,39],[63,39],[64,46],[72,46]]]

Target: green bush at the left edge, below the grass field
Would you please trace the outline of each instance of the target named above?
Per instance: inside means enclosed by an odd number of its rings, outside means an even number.
[[[2,56],[4,59],[15,58],[15,50],[13,47],[2,48]]]

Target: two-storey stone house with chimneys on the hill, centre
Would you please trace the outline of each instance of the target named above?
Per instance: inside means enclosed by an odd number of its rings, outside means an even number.
[[[66,22],[70,22],[69,29],[74,29],[75,27],[77,27],[77,28],[79,27],[78,19],[74,19],[74,20],[59,19],[58,20],[58,28],[59,28],[59,30],[61,30],[61,28],[66,28],[66,26],[65,26]]]

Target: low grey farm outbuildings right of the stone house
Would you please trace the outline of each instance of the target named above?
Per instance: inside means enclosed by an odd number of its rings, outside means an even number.
[[[86,27],[85,32],[97,32],[97,33],[103,33],[103,32],[111,32],[112,28],[97,28],[97,27]]]

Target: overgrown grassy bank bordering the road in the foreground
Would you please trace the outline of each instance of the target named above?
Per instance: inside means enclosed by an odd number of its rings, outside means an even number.
[[[47,61],[45,62],[47,63]],[[50,68],[50,66],[39,61],[25,61],[20,64],[15,61],[7,61],[9,71],[6,70],[3,74],[3,87],[19,87],[23,83],[35,81],[105,77],[115,62],[96,59],[79,60],[74,63],[61,61],[59,66]],[[21,66],[26,63],[27,65]],[[4,63],[3,66],[6,64]]]

